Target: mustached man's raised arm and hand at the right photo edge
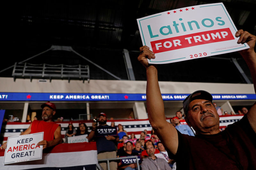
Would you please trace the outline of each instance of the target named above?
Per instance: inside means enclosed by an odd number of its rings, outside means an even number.
[[[252,75],[252,81],[254,85],[254,91],[256,93],[256,53],[254,51],[256,36],[248,33],[247,31],[238,30],[236,32],[236,37],[239,37],[237,43],[246,42],[250,48],[239,51],[239,53],[243,56],[246,64],[249,67],[249,70]],[[249,120],[252,129],[256,133],[256,102],[253,104],[249,112],[247,113],[247,118]]]

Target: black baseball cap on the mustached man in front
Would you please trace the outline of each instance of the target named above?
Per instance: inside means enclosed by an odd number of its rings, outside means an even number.
[[[196,99],[204,99],[212,102],[212,95],[204,90],[197,90],[196,92],[193,92],[192,94],[188,95],[188,97],[183,101],[183,111],[185,115],[188,114],[189,103]]]

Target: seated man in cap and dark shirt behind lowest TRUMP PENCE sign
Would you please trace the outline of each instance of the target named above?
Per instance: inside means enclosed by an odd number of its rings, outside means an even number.
[[[132,152],[132,142],[131,141],[127,141],[125,143],[125,152],[120,154],[119,157],[126,157],[126,156],[136,156],[136,155],[139,155],[138,153],[135,153],[135,152]],[[118,169],[124,169],[124,170],[137,170],[137,164],[125,164],[125,165],[122,165],[121,162],[118,163]]]

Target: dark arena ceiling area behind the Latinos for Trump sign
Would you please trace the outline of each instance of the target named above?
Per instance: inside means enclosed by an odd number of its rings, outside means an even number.
[[[146,80],[137,61],[142,46],[137,18],[200,4],[223,2],[237,29],[256,33],[255,0],[94,0],[83,3],[51,1],[4,2],[2,5],[2,62],[0,71],[49,49],[71,46],[81,55],[122,79],[128,79],[123,49],[130,51],[136,80]],[[237,53],[228,53],[171,64],[162,64],[160,81],[245,83],[230,58],[237,58],[245,74],[249,69]],[[76,54],[49,51],[27,63],[89,65],[90,79],[115,79]],[[0,72],[12,77],[12,69]]]

